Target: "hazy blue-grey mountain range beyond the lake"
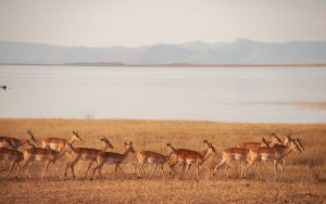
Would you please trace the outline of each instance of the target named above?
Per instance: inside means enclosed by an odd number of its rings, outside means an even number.
[[[0,41],[1,64],[286,64],[326,63],[326,41],[284,43],[237,39],[233,42],[158,43],[138,48],[63,47]]]

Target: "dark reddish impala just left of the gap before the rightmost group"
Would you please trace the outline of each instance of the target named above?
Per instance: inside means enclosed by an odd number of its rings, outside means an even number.
[[[215,148],[209,143],[209,150],[204,155],[202,155],[199,152],[192,151],[192,150],[186,150],[186,149],[175,149],[170,143],[167,146],[172,150],[172,155],[175,155],[177,157],[177,161],[183,164],[183,171],[184,175],[187,175],[190,168],[190,165],[195,164],[197,171],[196,171],[196,180],[199,180],[199,166],[201,166],[212,153],[216,154]],[[187,167],[187,170],[185,173],[185,169]],[[173,171],[173,167],[172,167]]]

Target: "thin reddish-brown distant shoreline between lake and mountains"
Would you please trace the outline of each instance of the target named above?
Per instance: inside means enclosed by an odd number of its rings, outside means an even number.
[[[34,66],[118,66],[118,67],[326,67],[326,63],[280,63],[280,64],[124,64],[124,63],[0,63],[0,65]]]

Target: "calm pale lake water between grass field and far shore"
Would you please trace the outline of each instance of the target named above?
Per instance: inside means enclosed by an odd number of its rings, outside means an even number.
[[[0,66],[0,117],[326,123],[323,67]]]

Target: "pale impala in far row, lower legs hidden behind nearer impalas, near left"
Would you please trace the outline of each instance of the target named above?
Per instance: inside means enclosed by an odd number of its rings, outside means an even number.
[[[72,138],[70,140],[62,139],[62,138],[46,138],[42,140],[42,148],[48,148],[51,150],[55,150],[59,152],[65,151],[67,157],[71,160],[70,154],[66,152],[68,149],[68,143],[73,144],[74,141],[82,141],[82,138],[79,137],[78,132],[72,131]]]

